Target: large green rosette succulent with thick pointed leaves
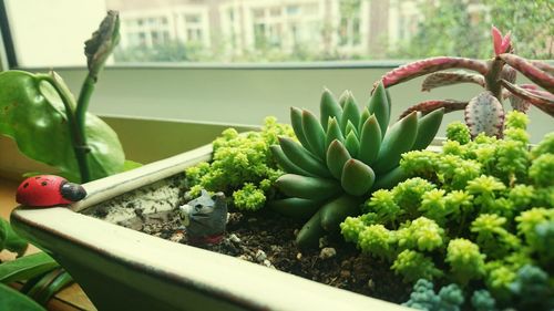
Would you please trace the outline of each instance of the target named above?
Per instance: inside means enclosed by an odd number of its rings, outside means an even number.
[[[287,173],[276,186],[288,198],[270,206],[308,219],[297,236],[298,246],[317,246],[324,235],[338,231],[347,216],[360,212],[359,205],[373,190],[404,178],[399,167],[402,153],[423,149],[432,142],[442,110],[423,117],[412,113],[389,128],[390,104],[380,85],[362,110],[351,92],[337,101],[328,90],[321,96],[319,118],[307,110],[291,108],[299,143],[279,137],[279,145],[271,146]]]

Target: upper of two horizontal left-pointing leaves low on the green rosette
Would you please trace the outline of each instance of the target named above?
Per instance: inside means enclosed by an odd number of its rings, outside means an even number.
[[[277,178],[275,185],[290,197],[325,200],[342,191],[335,179],[285,174]]]

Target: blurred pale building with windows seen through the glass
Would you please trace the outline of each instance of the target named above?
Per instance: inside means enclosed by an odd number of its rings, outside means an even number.
[[[106,6],[121,12],[122,50],[182,44],[184,50],[211,50],[220,59],[248,60],[271,52],[321,59],[382,56],[388,40],[398,40],[409,33],[404,28],[417,23],[411,2],[106,0]]]

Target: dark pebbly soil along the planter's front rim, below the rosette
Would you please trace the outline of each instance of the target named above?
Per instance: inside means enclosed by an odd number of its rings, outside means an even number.
[[[135,229],[188,243],[173,212],[140,217],[143,225]],[[373,298],[396,303],[408,300],[411,287],[390,270],[390,263],[361,255],[340,237],[321,240],[319,249],[300,250],[294,240],[301,226],[271,211],[232,211],[222,242],[197,247]]]

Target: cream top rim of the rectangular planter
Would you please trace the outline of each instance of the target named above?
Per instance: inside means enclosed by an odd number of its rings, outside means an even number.
[[[53,249],[52,242],[49,245],[41,236],[55,237],[79,248],[86,248],[107,260],[141,270],[158,280],[170,280],[178,288],[215,297],[245,310],[410,310],[75,212],[178,174],[197,162],[208,160],[211,155],[212,146],[206,145],[94,180],[83,185],[89,193],[86,199],[70,208],[18,207],[11,214],[11,220],[16,229],[23,231],[32,241],[39,241],[38,245],[53,252],[54,257],[57,250]],[[133,283],[127,286],[138,287]]]

